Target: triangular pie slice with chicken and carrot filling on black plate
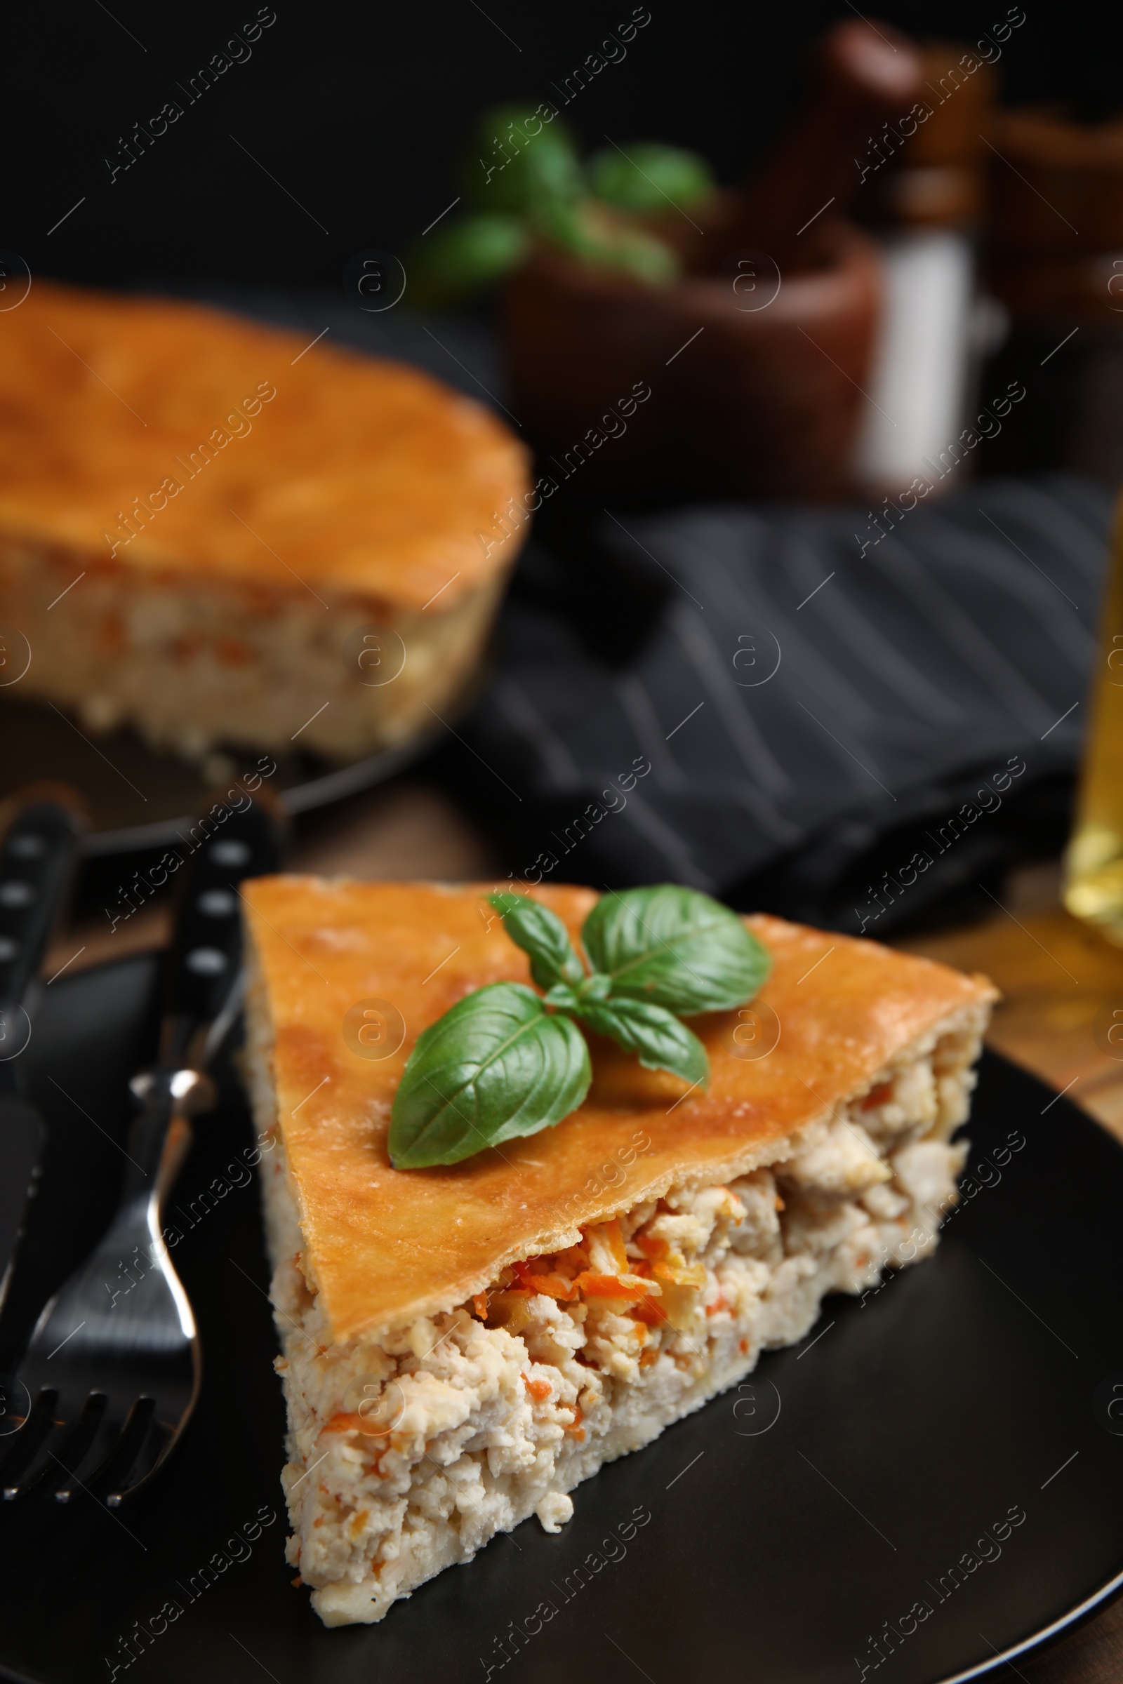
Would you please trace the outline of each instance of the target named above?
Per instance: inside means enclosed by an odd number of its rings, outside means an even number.
[[[529,982],[480,886],[247,884],[247,1069],[288,1399],[290,1561],[328,1625],[379,1620],[801,1339],[827,1292],[926,1256],[956,1197],[992,985],[751,918],[771,978],[692,1019],[685,1091],[593,1039],[588,1101],[394,1170],[426,1024]],[[596,896],[542,887],[577,938]]]

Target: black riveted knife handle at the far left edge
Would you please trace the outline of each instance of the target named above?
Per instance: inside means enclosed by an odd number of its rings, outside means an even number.
[[[0,842],[0,1002],[19,1005],[39,975],[69,893],[86,815],[67,790],[29,790]]]

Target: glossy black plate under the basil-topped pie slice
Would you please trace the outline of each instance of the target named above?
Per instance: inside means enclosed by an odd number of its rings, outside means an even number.
[[[52,1125],[29,1258],[40,1293],[104,1223],[152,987],[148,958],[62,978],[35,1024]],[[1123,1398],[1123,1150],[993,1056],[970,1133],[977,1192],[933,1261],[865,1303],[830,1298],[803,1346],[579,1487],[557,1537],[530,1521],[381,1625],[325,1630],[283,1561],[283,1406],[231,1088],[168,1212],[204,1337],[197,1415],[120,1516],[3,1509],[0,1671],[444,1684],[497,1677],[507,1654],[535,1684],[855,1684],[864,1662],[877,1684],[934,1684],[1017,1662],[1123,1583],[1123,1421],[1108,1413],[1116,1383]],[[1025,1143],[1002,1167],[1012,1133]]]

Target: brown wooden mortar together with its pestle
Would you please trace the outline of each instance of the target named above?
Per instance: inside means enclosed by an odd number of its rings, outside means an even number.
[[[764,167],[648,221],[679,251],[680,281],[647,286],[547,248],[532,258],[505,295],[507,357],[546,475],[583,500],[847,492],[881,258],[838,212],[869,131],[919,86],[919,56],[889,24],[835,25]]]

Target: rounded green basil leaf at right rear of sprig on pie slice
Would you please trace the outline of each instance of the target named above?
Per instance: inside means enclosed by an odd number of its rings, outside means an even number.
[[[736,913],[675,884],[603,894],[581,931],[611,999],[652,1000],[672,1012],[726,1012],[744,1005],[771,968]]]

